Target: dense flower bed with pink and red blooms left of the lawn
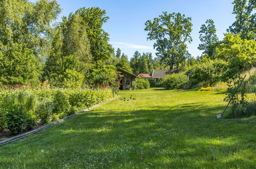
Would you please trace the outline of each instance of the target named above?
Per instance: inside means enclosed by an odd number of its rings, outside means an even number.
[[[48,83],[0,87],[0,131],[19,134],[114,97],[111,86],[50,88]]]

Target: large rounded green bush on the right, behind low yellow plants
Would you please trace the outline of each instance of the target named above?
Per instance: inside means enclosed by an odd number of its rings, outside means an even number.
[[[190,69],[188,69],[186,75],[189,77],[190,87],[193,87],[203,81],[205,81],[203,87],[207,87],[208,85],[212,86],[215,82],[220,81],[226,70],[226,61],[221,59],[208,59],[192,66]]]

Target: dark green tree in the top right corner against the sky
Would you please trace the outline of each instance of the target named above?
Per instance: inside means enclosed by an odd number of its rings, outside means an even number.
[[[227,29],[228,32],[238,35],[242,39],[253,39],[256,36],[256,1],[255,0],[234,0],[233,14],[235,22]]]

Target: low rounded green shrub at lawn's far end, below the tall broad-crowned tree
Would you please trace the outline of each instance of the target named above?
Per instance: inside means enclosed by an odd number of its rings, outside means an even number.
[[[167,90],[184,89],[188,82],[188,76],[184,73],[172,73],[163,78],[162,85]]]

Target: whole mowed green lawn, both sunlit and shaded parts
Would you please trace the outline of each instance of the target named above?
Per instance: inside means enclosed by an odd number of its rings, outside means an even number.
[[[216,92],[160,88],[119,98],[0,147],[0,168],[255,168],[256,118],[217,119]]]

